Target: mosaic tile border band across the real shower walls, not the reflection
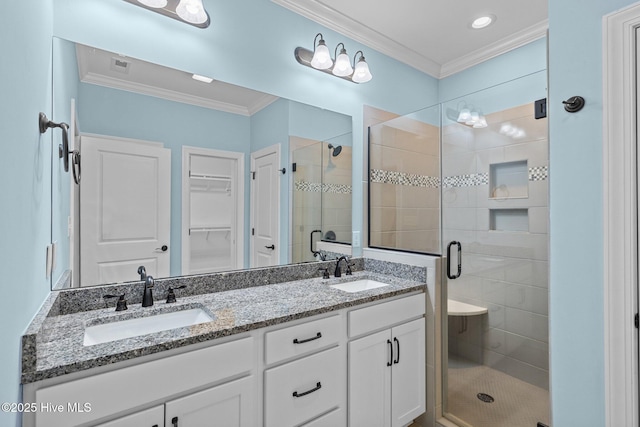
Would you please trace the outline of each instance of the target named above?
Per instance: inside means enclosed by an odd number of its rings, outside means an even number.
[[[382,169],[371,169],[369,176],[372,183],[440,188],[440,178],[436,176],[417,175]],[[548,178],[548,166],[529,168],[529,181],[544,181]],[[445,176],[442,178],[442,188],[477,187],[479,185],[489,185],[488,173],[472,173],[467,175]]]

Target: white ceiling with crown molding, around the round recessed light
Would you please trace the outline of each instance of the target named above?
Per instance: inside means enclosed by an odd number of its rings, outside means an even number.
[[[547,0],[272,1],[436,78],[541,38],[547,30]],[[471,22],[486,14],[495,15],[495,23],[473,30]],[[303,47],[313,47],[314,35]],[[333,49],[341,40],[326,41]]]

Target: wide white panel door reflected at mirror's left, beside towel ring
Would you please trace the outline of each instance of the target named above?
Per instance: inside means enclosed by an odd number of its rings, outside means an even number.
[[[80,200],[81,286],[169,276],[170,150],[83,136]]]

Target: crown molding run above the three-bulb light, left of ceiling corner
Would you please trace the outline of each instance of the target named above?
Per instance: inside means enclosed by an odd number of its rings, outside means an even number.
[[[430,76],[437,78],[440,74],[436,62],[314,0],[307,0],[304,6],[300,1],[271,1]]]

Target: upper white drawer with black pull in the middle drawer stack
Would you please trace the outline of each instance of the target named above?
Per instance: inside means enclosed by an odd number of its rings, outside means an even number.
[[[336,345],[342,336],[342,325],[342,316],[335,315],[267,332],[265,363],[271,365]]]

